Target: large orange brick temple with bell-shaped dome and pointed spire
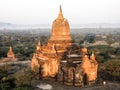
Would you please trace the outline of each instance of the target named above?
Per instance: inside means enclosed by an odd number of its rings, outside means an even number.
[[[40,77],[57,77],[65,84],[85,85],[97,79],[98,63],[94,53],[89,54],[85,46],[82,49],[74,43],[70,35],[70,26],[64,18],[62,8],[53,21],[52,33],[46,45],[40,40],[33,55],[31,68],[39,70]]]

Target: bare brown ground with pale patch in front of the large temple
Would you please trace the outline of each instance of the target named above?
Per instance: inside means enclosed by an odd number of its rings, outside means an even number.
[[[85,87],[74,87],[62,84],[62,82],[55,82],[54,80],[39,80],[35,81],[35,90],[120,90],[120,83],[110,83],[106,85],[94,85]]]

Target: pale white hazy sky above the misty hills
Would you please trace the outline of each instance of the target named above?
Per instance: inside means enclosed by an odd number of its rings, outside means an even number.
[[[0,22],[52,24],[60,4],[70,24],[120,23],[120,0],[0,0]]]

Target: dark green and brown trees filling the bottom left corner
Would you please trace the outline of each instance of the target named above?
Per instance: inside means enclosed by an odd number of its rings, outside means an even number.
[[[31,81],[32,73],[28,68],[9,75],[7,69],[0,67],[0,90],[33,90]]]

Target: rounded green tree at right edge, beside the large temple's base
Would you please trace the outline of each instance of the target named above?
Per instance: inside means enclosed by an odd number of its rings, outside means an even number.
[[[104,79],[120,82],[120,60],[109,60],[102,65]]]

